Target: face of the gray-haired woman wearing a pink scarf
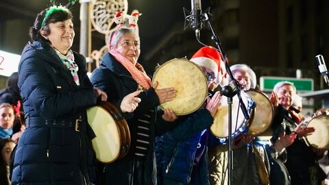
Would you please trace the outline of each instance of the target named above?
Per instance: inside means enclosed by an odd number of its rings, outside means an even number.
[[[136,64],[141,53],[139,37],[136,34],[124,34],[119,39],[115,49],[130,62]]]

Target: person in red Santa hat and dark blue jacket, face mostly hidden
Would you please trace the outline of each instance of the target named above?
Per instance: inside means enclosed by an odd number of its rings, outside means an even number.
[[[208,86],[215,82],[221,54],[212,47],[202,47],[191,61],[208,77]],[[216,80],[219,82],[220,80]],[[210,95],[212,96],[212,95]],[[175,127],[157,138],[156,160],[159,184],[209,184],[208,128],[213,123],[221,95],[214,93],[199,110],[174,121]]]

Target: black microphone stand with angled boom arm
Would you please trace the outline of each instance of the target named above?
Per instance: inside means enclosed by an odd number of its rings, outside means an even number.
[[[232,79],[232,86],[233,88],[228,85],[228,86],[224,86],[223,90],[222,90],[222,94],[226,97],[228,97],[228,185],[232,184],[232,167],[233,167],[233,153],[232,153],[232,97],[234,97],[235,95],[238,95],[239,97],[239,103],[240,103],[240,107],[241,110],[243,112],[243,116],[245,116],[245,119],[249,119],[249,114],[247,112],[247,108],[245,108],[245,104],[243,103],[243,100],[241,98],[241,85],[239,84],[239,82],[236,81],[236,79],[234,79],[233,75],[232,75],[232,71],[230,70],[230,66],[228,65],[228,60],[226,59],[226,53],[223,51],[223,48],[221,47],[221,42],[218,38],[218,36],[215,33],[215,29],[212,26],[212,23],[210,21],[209,18],[209,12],[206,11],[204,12],[204,20],[207,21],[208,26],[212,32],[212,37],[211,40],[213,40],[215,42],[215,44],[217,45],[217,48],[219,49],[219,51],[221,52],[222,56],[223,56],[223,60],[225,61],[225,67],[226,67],[226,71],[228,72],[228,75],[230,76],[230,79]],[[231,82],[230,82],[231,83]]]

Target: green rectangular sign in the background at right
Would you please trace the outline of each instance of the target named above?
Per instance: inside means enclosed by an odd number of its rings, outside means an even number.
[[[260,77],[260,90],[271,91],[278,82],[288,81],[293,83],[297,91],[313,91],[313,79],[293,77]]]

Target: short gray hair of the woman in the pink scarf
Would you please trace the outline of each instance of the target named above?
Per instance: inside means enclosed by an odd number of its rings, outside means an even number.
[[[130,27],[119,27],[118,29],[114,29],[114,31],[110,32],[108,35],[108,48],[110,49],[111,47],[117,47],[120,38],[126,34],[134,34],[139,38],[136,29]]]

